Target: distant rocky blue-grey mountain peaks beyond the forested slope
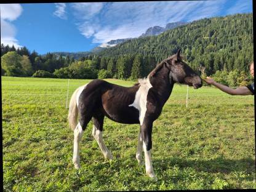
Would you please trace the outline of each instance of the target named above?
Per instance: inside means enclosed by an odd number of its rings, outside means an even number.
[[[146,37],[146,36],[156,36],[166,30],[170,30],[177,26],[181,26],[181,25],[185,25],[185,24],[187,24],[187,23],[186,22],[168,23],[165,28],[163,28],[161,26],[152,26],[152,27],[148,28],[145,33],[143,33],[141,36],[139,36],[139,38]],[[90,50],[90,52],[93,52],[96,54],[96,53],[102,51],[103,49],[114,47],[114,46],[121,44],[122,42],[126,42],[130,39],[134,39],[134,38],[111,40],[109,42],[101,44],[100,46],[94,47],[94,49]]]

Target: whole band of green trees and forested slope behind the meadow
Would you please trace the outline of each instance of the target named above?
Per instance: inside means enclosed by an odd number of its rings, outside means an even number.
[[[30,54],[26,47],[15,49],[1,44],[2,75],[138,79],[178,48],[182,48],[185,62],[202,76],[234,74],[236,81],[226,79],[225,84],[245,84],[252,80],[248,73],[248,64],[253,60],[252,14],[204,18],[158,36],[130,39],[97,54],[87,53],[79,59],[50,53],[42,56],[35,51]],[[14,57],[12,62],[10,57]],[[20,63],[8,68],[6,63],[14,65],[14,60]]]

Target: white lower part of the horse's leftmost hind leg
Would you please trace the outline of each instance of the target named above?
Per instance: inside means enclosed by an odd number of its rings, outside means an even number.
[[[73,164],[74,168],[80,168],[80,160],[79,160],[79,142],[81,141],[82,134],[84,134],[84,130],[78,122],[76,129],[74,129],[74,153],[73,153]]]

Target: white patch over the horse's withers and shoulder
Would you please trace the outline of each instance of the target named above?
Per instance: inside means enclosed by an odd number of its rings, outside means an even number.
[[[148,96],[148,90],[152,85],[148,78],[138,79],[138,82],[140,83],[140,88],[138,88],[136,92],[134,103],[129,106],[137,108],[139,113],[138,119],[140,120],[140,125],[142,125],[146,114],[146,97]]]

